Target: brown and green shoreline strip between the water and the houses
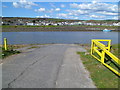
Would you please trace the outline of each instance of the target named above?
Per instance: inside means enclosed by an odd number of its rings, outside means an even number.
[[[3,26],[2,32],[102,31],[105,28],[112,31],[120,31],[118,27],[106,26]]]

